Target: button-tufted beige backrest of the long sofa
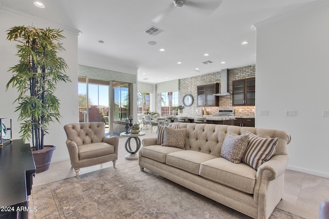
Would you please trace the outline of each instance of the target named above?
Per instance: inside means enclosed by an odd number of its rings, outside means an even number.
[[[276,154],[287,154],[287,144],[290,142],[290,135],[285,131],[263,129],[254,127],[240,127],[215,124],[195,124],[195,123],[171,123],[169,127],[187,128],[185,149],[200,151],[220,157],[225,136],[229,132],[236,135],[252,132],[260,137],[278,137]]]

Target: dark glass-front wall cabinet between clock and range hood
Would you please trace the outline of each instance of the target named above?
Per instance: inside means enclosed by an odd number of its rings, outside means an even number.
[[[219,84],[210,84],[197,86],[197,106],[217,107],[218,96],[213,94],[218,93]]]

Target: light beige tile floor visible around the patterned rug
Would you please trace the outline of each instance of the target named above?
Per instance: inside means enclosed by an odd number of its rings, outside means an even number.
[[[145,137],[156,137],[156,133],[150,133],[141,136],[142,140]],[[124,148],[126,138],[119,139],[119,156],[116,165],[121,165],[127,162],[136,162],[126,160],[124,156],[127,154]],[[134,141],[132,141],[133,147]],[[102,168],[112,167],[113,163],[108,162],[102,165],[86,167],[80,169],[80,174],[99,170]],[[63,180],[64,178],[75,176],[74,169],[71,169],[70,161],[51,163],[49,170],[38,173],[33,179],[33,187],[44,185],[46,183]],[[320,203],[329,198],[329,178],[310,175],[306,173],[286,170],[283,200],[278,204],[278,208],[300,215],[305,218],[318,218]]]

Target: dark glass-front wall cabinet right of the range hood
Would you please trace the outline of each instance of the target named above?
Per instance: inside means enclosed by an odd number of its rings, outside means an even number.
[[[255,78],[247,78],[232,82],[233,106],[255,105]]]

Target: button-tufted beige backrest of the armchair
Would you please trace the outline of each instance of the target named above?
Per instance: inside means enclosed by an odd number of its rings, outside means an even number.
[[[67,140],[77,146],[102,142],[105,136],[105,123],[72,123],[64,126]]]

